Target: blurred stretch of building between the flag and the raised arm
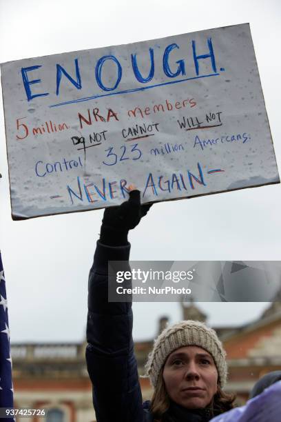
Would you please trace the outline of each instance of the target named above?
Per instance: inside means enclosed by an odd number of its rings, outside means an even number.
[[[12,345],[14,407],[45,409],[37,422],[94,421],[86,343]],[[19,419],[21,421],[21,419]]]

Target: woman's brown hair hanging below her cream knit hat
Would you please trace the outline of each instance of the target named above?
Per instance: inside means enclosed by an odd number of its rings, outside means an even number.
[[[220,385],[218,385],[218,390],[208,408],[214,413],[213,416],[216,416],[217,414],[231,410],[234,407],[233,401],[235,399],[235,394],[225,393],[220,388]],[[154,416],[154,422],[162,422],[163,415],[169,409],[169,405],[170,399],[165,388],[162,368],[158,376],[157,385],[152,396],[152,403],[150,405],[150,410]]]

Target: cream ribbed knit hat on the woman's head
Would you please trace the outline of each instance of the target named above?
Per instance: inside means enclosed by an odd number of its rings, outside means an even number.
[[[199,321],[181,321],[165,328],[154,341],[145,368],[150,382],[156,388],[161,368],[171,352],[184,346],[195,345],[207,350],[214,359],[218,370],[218,381],[223,387],[227,381],[226,352],[214,330]]]

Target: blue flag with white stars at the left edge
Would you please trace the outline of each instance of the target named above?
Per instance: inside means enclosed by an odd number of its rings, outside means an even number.
[[[12,359],[3,264],[0,252],[0,408],[13,408]],[[7,419],[10,421],[11,419]],[[1,419],[3,421],[3,419]]]

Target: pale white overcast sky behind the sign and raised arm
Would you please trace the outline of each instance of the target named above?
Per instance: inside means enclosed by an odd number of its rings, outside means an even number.
[[[0,62],[249,22],[280,168],[280,1],[0,0]],[[12,221],[0,107],[0,248],[12,342],[83,341],[87,274],[103,211]],[[280,185],[157,203],[130,234],[133,260],[280,260]],[[200,303],[214,325],[257,318],[267,303]],[[178,303],[134,304],[134,337]]]

